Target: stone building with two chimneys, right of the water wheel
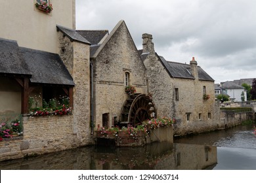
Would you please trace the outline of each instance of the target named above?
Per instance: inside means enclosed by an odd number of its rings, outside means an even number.
[[[214,80],[197,61],[166,61],[154,51],[152,35],[143,34],[141,58],[146,66],[148,92],[159,116],[175,118],[175,135],[217,129]]]

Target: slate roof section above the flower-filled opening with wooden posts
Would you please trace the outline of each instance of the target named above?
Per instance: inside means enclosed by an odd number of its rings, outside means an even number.
[[[32,72],[32,78],[30,78],[32,83],[75,85],[58,54],[29,48],[20,48],[20,50]]]

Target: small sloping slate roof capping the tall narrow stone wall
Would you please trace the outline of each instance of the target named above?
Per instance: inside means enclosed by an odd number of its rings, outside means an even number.
[[[81,36],[77,31],[74,29],[68,29],[66,27],[62,27],[60,25],[57,25],[57,31],[61,31],[71,39],[71,41],[77,41],[77,42],[82,42],[85,44],[91,44],[91,42],[87,41],[83,36]]]

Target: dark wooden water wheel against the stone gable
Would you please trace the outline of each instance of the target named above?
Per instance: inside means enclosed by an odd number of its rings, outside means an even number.
[[[121,124],[140,125],[156,117],[156,107],[148,95],[135,93],[125,101],[121,111]]]

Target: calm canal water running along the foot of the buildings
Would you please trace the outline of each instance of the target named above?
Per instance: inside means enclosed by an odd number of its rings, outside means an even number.
[[[41,156],[0,162],[0,169],[129,170],[256,169],[252,125],[175,138],[173,144],[144,147],[86,146]]]

